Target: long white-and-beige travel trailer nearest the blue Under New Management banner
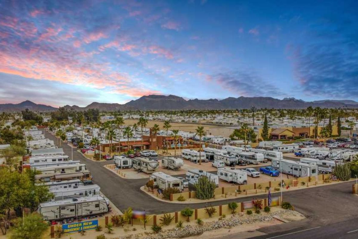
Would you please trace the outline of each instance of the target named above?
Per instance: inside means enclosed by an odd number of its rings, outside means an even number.
[[[101,196],[80,197],[40,203],[38,213],[44,220],[89,217],[110,211],[109,201]]]

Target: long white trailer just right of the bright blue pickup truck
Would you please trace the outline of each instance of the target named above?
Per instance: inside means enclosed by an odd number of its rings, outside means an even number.
[[[287,159],[274,159],[271,161],[271,166],[277,168],[277,170],[282,170],[282,173],[293,175],[295,177],[318,175],[318,166],[313,163],[296,162]]]

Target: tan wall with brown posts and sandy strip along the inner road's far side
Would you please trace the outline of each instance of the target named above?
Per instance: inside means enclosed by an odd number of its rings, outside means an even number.
[[[350,180],[354,180],[354,179],[351,178]],[[282,191],[284,192],[316,187],[316,186],[330,185],[332,183],[344,182],[339,180],[332,180],[332,174],[323,174],[315,177],[302,177],[297,179],[285,179],[282,181],[283,181]],[[162,193],[159,194],[157,191],[151,190],[146,186],[142,186],[141,190],[146,192],[148,195],[155,197],[158,200],[186,204],[186,203],[219,201],[219,200],[234,199],[234,198],[254,196],[254,195],[264,195],[269,192],[269,188],[271,188],[271,193],[280,192],[281,190],[280,180],[262,182],[262,183],[253,183],[247,185],[235,185],[231,187],[218,187],[214,191],[214,197],[205,200],[198,199],[196,196],[196,191],[172,193],[170,194],[169,198],[166,199],[165,197],[163,197]]]

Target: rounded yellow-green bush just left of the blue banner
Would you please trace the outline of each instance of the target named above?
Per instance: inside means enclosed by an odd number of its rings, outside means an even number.
[[[48,228],[48,224],[42,220],[39,214],[33,213],[22,219],[16,220],[11,239],[41,239]]]

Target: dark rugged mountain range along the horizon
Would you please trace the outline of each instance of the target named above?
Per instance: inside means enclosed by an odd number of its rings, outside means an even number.
[[[276,108],[276,109],[305,109],[308,106],[321,108],[358,108],[358,102],[353,100],[319,100],[319,101],[304,101],[295,98],[285,98],[283,100],[272,97],[243,97],[238,98],[228,97],[223,100],[209,99],[209,100],[185,100],[182,97],[175,95],[148,95],[142,96],[139,99],[131,100],[126,104],[117,103],[98,103],[93,102],[86,107],[79,107],[77,105],[63,106],[67,110],[84,111],[89,109],[99,109],[101,111],[118,111],[118,110],[190,110],[190,109],[248,109],[252,106],[257,108]],[[0,111],[20,111],[24,109],[33,111],[54,111],[58,108],[35,104],[31,101],[24,101],[19,104],[0,104]]]

